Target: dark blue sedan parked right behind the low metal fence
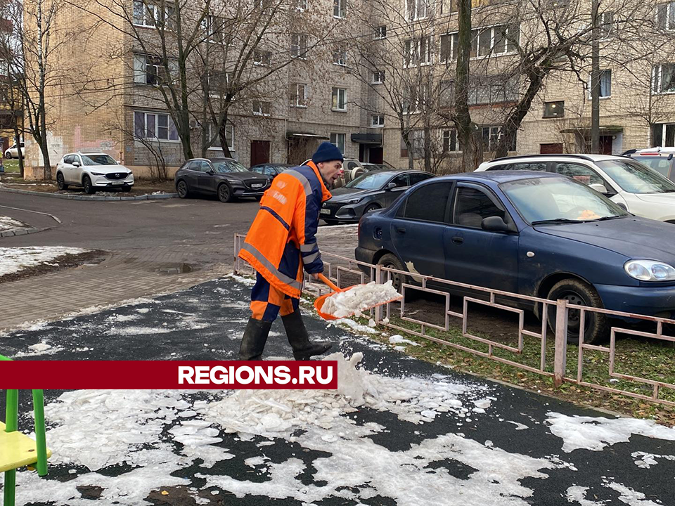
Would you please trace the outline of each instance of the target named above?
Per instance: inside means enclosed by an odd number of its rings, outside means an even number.
[[[415,284],[420,273],[569,304],[675,314],[672,225],[629,214],[558,174],[482,172],[420,183],[361,219],[355,256],[411,273],[395,278],[398,286]],[[569,342],[578,341],[579,324],[579,311],[570,311]],[[607,331],[605,315],[586,314],[586,342],[601,342]]]

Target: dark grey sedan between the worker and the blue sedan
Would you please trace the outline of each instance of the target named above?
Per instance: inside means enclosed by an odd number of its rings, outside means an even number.
[[[368,172],[342,188],[332,190],[333,197],[323,202],[321,218],[330,225],[339,221],[359,221],[367,212],[386,209],[402,191],[432,177],[433,174],[423,171]]]

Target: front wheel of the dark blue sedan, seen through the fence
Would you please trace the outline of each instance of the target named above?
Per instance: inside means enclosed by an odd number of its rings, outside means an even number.
[[[566,279],[555,283],[548,292],[547,299],[565,299],[569,306],[590,306],[603,308],[598,292],[588,283],[577,279]],[[581,312],[567,311],[567,343],[579,344],[579,326]],[[555,305],[548,306],[548,326],[555,332]],[[597,344],[607,338],[607,316],[602,313],[586,311],[584,323],[584,342]]]

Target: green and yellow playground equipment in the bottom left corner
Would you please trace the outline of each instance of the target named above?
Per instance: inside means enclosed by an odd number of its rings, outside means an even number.
[[[0,355],[0,361],[10,358]],[[0,472],[5,473],[4,506],[14,506],[16,469],[35,465],[39,476],[47,474],[47,459],[51,450],[47,448],[44,427],[44,397],[41,390],[33,390],[33,411],[35,414],[35,441],[18,432],[19,391],[7,390],[5,423],[0,422]]]

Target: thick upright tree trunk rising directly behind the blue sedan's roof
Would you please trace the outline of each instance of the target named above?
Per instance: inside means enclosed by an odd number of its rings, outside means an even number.
[[[471,51],[471,0],[458,1],[458,51],[455,74],[455,112],[452,117],[462,149],[464,171],[473,171],[483,158],[480,131],[469,112],[469,58]]]

